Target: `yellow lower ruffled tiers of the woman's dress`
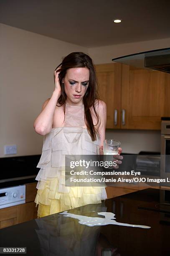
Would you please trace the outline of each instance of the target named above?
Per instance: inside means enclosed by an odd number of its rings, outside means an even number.
[[[38,218],[89,204],[100,204],[106,199],[105,187],[69,187],[68,193],[58,191],[59,181],[46,181],[43,189],[37,190]]]

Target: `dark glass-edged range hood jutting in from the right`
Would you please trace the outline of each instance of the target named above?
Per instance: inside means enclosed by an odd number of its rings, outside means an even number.
[[[170,73],[170,48],[126,55],[112,59],[112,61],[143,69]]]

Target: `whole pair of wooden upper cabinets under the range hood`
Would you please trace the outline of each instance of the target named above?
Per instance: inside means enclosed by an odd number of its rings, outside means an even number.
[[[107,128],[160,130],[161,116],[170,116],[170,74],[117,63],[96,65],[96,73]]]

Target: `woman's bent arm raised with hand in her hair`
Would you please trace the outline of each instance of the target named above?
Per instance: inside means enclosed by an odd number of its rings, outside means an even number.
[[[61,86],[58,78],[60,72],[58,72],[58,69],[54,72],[55,90],[53,91],[51,98],[44,102],[41,113],[34,121],[34,129],[36,133],[43,136],[51,131],[54,111],[56,109],[58,98],[61,95]]]

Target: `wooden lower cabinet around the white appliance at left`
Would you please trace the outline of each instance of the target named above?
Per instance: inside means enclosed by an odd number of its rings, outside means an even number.
[[[26,184],[26,203],[0,209],[0,228],[22,223],[37,218],[36,204],[36,182]]]

